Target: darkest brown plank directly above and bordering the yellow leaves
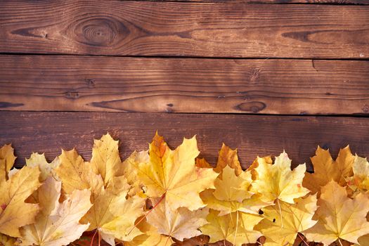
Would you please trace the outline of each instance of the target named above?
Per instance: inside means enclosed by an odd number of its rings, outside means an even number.
[[[183,136],[197,134],[200,155],[212,163],[224,142],[238,148],[243,167],[257,155],[277,155],[285,149],[294,164],[306,162],[311,169],[309,157],[317,145],[337,155],[350,144],[353,153],[369,155],[369,121],[359,117],[3,111],[0,126],[0,144],[13,143],[17,167],[32,151],[45,152],[52,160],[60,148],[76,147],[89,160],[92,139],[107,131],[119,138],[123,158],[148,148],[156,130],[174,148]]]

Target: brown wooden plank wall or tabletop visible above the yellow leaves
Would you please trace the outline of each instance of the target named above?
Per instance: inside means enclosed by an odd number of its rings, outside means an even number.
[[[0,1],[0,110],[17,167],[107,131],[123,159],[155,130],[243,167],[369,156],[369,0]]]

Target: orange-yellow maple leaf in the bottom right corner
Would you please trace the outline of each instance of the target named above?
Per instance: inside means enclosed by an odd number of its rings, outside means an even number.
[[[336,240],[358,243],[361,235],[369,233],[369,222],[365,216],[369,212],[369,198],[359,193],[354,199],[347,197],[347,191],[335,181],[330,181],[321,189],[321,198],[316,210],[318,223],[305,231],[310,241],[324,245]]]

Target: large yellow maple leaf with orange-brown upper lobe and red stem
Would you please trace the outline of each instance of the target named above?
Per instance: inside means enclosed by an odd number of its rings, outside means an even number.
[[[162,198],[175,210],[187,207],[196,210],[205,207],[199,193],[214,188],[218,174],[212,169],[195,167],[199,154],[195,136],[170,150],[164,138],[155,134],[149,146],[150,161],[136,164],[138,179],[147,188],[150,198]]]

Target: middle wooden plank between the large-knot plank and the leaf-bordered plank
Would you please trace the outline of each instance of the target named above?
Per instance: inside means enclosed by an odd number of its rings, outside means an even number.
[[[369,61],[0,56],[0,75],[0,110],[369,112]]]

